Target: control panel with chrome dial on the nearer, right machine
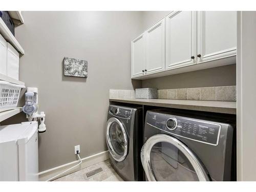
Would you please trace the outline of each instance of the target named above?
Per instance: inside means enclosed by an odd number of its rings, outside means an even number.
[[[200,119],[147,112],[146,123],[169,134],[218,145],[221,125]]]

